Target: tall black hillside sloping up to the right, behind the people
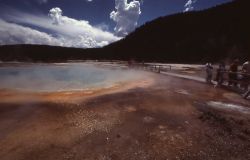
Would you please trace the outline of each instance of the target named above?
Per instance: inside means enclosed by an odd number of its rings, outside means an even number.
[[[205,62],[250,56],[250,1],[160,17],[107,47],[114,57]]]

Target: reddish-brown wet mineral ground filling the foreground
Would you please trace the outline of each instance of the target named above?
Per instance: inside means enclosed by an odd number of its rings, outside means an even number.
[[[191,80],[0,104],[1,160],[249,160],[250,102]]]

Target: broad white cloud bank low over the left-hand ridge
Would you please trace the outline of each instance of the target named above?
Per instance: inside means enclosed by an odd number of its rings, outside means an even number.
[[[9,39],[15,39],[15,43],[94,48],[108,45],[120,39],[120,37],[117,37],[108,31],[104,31],[100,27],[92,26],[88,21],[76,20],[67,16],[63,16],[63,11],[57,7],[52,8],[49,11],[48,16],[32,15],[16,11],[5,15],[5,17],[9,21],[15,23],[13,24],[5,22],[5,26],[15,25],[15,27],[10,29],[5,27],[5,31],[7,30],[8,33],[5,34],[5,37],[7,36]],[[43,30],[44,32],[28,28],[27,26],[34,26],[39,28],[39,30]],[[25,32],[23,32],[23,34],[19,33],[21,31],[20,28],[22,28],[22,31],[25,28]],[[47,39],[44,39],[44,43],[42,43],[43,39],[38,42],[35,36],[27,37],[24,35],[34,35],[35,31],[37,31],[36,33],[41,33],[43,36],[46,35],[45,37],[47,37]],[[14,44],[14,41],[13,43],[7,41],[2,35],[0,36],[0,39],[2,39],[0,44]]]

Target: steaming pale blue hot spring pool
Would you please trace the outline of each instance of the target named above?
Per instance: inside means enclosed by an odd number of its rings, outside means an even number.
[[[52,92],[112,87],[143,78],[142,71],[93,63],[22,64],[0,67],[0,89]]]

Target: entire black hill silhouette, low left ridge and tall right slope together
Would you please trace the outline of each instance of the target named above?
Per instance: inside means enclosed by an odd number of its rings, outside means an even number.
[[[250,56],[250,1],[160,17],[99,49],[1,46],[1,60],[119,59],[175,63],[246,59]]]

